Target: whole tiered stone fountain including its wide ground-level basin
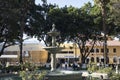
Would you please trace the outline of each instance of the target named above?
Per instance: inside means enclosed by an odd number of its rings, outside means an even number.
[[[56,36],[59,34],[60,32],[57,32],[55,24],[53,24],[52,30],[48,32],[48,35],[52,37],[52,46],[44,48],[51,53],[51,71],[48,72],[46,78],[47,80],[80,80],[82,75],[79,71],[56,69],[56,54],[63,49],[56,46]]]

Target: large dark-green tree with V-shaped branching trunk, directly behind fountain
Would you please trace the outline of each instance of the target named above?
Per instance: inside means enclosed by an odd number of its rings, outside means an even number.
[[[61,35],[57,37],[58,44],[65,41],[73,41],[79,45],[81,52],[81,61],[85,63],[86,58],[93,49],[96,43],[96,35],[99,34],[99,29],[95,27],[93,16],[90,15],[92,6],[90,3],[86,4],[83,8],[78,9],[72,6],[59,8],[58,6],[47,6],[46,26],[33,27],[39,31],[35,31],[35,36],[40,40],[48,42],[51,45],[51,38],[47,36],[47,32],[51,29],[51,25],[55,23],[57,30]],[[41,11],[39,10],[41,13]],[[37,21],[39,18],[36,18]],[[42,18],[43,19],[43,18]],[[44,20],[44,19],[43,19]],[[34,32],[34,30],[33,30]],[[38,34],[39,33],[39,34]],[[86,44],[91,41],[92,47],[88,50]]]

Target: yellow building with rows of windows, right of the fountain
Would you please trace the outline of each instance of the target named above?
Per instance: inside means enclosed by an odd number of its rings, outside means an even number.
[[[91,47],[89,43],[86,46],[89,48]],[[80,49],[76,44],[66,43],[63,44],[62,47],[65,47],[65,49],[56,55],[57,59],[61,59],[63,62],[66,60],[68,62],[73,62],[77,59],[80,62]],[[120,64],[120,41],[107,41],[107,61],[108,64]],[[91,50],[90,55],[86,59],[86,63],[90,62],[104,63],[104,49],[102,42],[95,44],[93,50]]]

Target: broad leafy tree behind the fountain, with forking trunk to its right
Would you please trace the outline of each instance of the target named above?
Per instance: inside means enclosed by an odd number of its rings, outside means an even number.
[[[95,11],[97,12],[95,13]],[[43,40],[47,46],[51,45],[51,37],[47,32],[50,31],[51,25],[55,23],[57,30],[61,35],[57,37],[58,44],[65,41],[73,41],[79,45],[81,53],[81,62],[85,63],[98,40],[101,40],[102,13],[98,6],[92,6],[90,3],[85,4],[82,8],[63,7],[47,4],[38,5],[35,8],[37,13],[32,15],[31,33],[29,35],[36,36],[40,41]],[[35,17],[35,18],[33,18]],[[108,25],[113,24],[112,21],[107,22]],[[114,25],[114,24],[113,24]],[[113,26],[112,25],[112,26]],[[109,31],[112,28],[108,28]],[[87,42],[91,43],[91,48],[86,47]]]

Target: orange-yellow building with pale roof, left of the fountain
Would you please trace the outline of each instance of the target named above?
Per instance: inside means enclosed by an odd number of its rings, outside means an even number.
[[[19,63],[20,50],[19,45],[10,46],[5,49],[4,54],[0,56],[0,62],[9,62],[10,65]],[[48,52],[38,43],[23,44],[22,59],[24,62],[31,62],[36,65],[44,65],[47,62]]]

